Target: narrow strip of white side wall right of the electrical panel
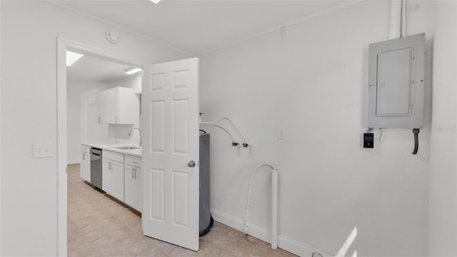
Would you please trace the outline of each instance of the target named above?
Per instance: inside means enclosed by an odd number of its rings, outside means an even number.
[[[456,1],[438,1],[434,11],[428,256],[457,256]]]

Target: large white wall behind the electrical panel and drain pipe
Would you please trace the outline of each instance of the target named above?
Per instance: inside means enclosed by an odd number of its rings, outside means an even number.
[[[430,32],[431,3],[418,4],[408,11],[408,34]],[[253,143],[234,148],[226,133],[207,129],[217,220],[241,228],[251,170],[268,161],[279,171],[281,248],[335,254],[357,227],[348,254],[427,255],[430,110],[416,156],[409,129],[384,130],[383,143],[376,130],[375,148],[362,148],[368,44],[388,39],[389,11],[389,1],[364,1],[288,26],[283,41],[273,31],[201,56],[204,121],[230,116]],[[279,126],[285,140],[276,138]],[[249,221],[257,226],[251,233],[268,239],[270,174],[263,171]]]

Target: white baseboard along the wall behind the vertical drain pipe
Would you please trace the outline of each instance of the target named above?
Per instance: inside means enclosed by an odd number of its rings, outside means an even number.
[[[243,221],[241,219],[235,218],[220,211],[216,211],[214,209],[211,209],[211,215],[215,221],[223,223],[224,225],[231,228],[235,228],[238,231],[243,231]],[[271,243],[271,231],[256,226],[252,223],[248,223],[248,228],[248,234],[250,236],[258,238],[261,241]],[[281,235],[278,235],[278,247],[298,256],[311,256],[314,252],[321,253],[322,256],[334,256],[332,253],[327,253],[326,251],[322,251],[320,249],[314,248],[313,246],[308,246],[305,243],[300,243],[293,240],[292,238]]]

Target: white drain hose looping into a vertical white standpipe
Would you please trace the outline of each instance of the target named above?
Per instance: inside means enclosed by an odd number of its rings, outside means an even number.
[[[268,163],[261,163],[253,169],[248,184],[248,199],[246,201],[246,214],[243,219],[243,232],[248,233],[248,217],[251,209],[251,191],[253,178],[259,168],[271,168],[271,249],[278,248],[278,169]]]

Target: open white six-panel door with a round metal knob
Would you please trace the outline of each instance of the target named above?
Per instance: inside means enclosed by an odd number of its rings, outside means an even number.
[[[199,59],[144,67],[144,234],[199,250]]]

